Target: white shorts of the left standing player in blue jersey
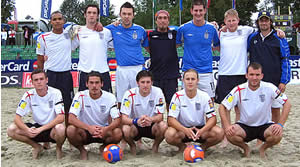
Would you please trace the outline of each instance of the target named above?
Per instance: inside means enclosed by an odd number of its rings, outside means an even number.
[[[136,75],[143,69],[138,66],[118,66],[116,71],[117,101],[121,103],[124,93],[131,88],[137,87]]]

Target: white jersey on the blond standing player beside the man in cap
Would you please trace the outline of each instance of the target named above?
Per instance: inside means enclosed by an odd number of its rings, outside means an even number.
[[[249,26],[238,26],[235,32],[221,32],[219,75],[246,74],[247,39],[253,30]]]

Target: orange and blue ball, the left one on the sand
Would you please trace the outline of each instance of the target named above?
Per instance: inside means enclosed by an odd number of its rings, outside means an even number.
[[[121,161],[123,150],[117,144],[109,144],[103,150],[103,158],[109,163]]]

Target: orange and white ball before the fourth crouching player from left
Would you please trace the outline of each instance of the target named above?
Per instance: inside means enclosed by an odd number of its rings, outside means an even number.
[[[204,151],[198,145],[189,145],[185,148],[183,157],[186,162],[199,162],[204,159]]]

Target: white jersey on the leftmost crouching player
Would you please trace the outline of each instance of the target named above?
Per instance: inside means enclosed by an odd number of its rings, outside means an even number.
[[[64,114],[61,92],[50,86],[48,86],[47,94],[43,97],[39,96],[35,89],[27,91],[24,93],[16,113],[23,117],[30,111],[32,111],[32,117],[36,123],[48,124],[58,114]]]

